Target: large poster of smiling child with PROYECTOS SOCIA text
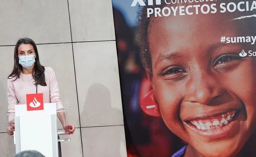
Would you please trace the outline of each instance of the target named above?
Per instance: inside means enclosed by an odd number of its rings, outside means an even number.
[[[256,0],[112,0],[128,157],[256,157]]]

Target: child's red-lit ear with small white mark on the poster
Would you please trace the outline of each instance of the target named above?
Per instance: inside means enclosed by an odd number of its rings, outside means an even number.
[[[153,89],[148,91],[148,93],[144,96],[144,98],[142,98],[140,107],[142,111],[149,116],[161,117],[160,109],[155,99],[155,94]]]

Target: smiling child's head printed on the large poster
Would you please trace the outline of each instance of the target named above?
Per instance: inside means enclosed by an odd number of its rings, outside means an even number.
[[[256,17],[231,20],[255,12],[220,13],[217,6],[215,14],[150,18],[142,9],[141,57],[152,84],[146,99],[156,104],[141,107],[188,143],[185,157],[255,156],[249,148],[255,147],[256,56],[248,52],[256,51]],[[224,36],[251,42],[221,42]]]

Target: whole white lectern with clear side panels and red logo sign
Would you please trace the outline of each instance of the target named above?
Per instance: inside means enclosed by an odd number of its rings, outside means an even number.
[[[56,111],[56,103],[43,103],[43,93],[27,94],[26,99],[27,104],[15,105],[15,113],[6,113],[8,126],[14,119],[16,154],[35,150],[45,157],[62,157],[60,142],[71,140],[67,110]]]

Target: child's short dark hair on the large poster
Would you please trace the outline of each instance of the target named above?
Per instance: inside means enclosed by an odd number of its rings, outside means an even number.
[[[235,3],[238,3],[240,2],[240,0],[232,0],[232,2],[235,2]],[[206,2],[206,3],[213,3],[213,2]],[[214,3],[223,3],[223,2],[214,2]],[[250,2],[251,3],[251,2]],[[190,3],[191,4],[191,3]],[[146,6],[142,6],[141,9],[139,10],[139,15],[138,15],[138,31],[139,31],[139,46],[140,46],[140,59],[141,59],[141,62],[142,62],[142,65],[143,67],[145,68],[145,71],[147,72],[147,74],[150,74],[152,75],[152,63],[151,63],[151,54],[150,54],[150,46],[149,46],[149,43],[148,43],[148,31],[149,31],[149,28],[151,27],[151,24],[153,22],[156,22],[155,21],[155,17],[153,16],[150,16],[148,18],[148,15],[147,15],[147,9],[148,8],[160,8],[160,9],[163,9],[163,7],[165,6],[181,6],[182,4],[161,4],[161,5],[156,5],[155,4],[155,1],[154,1],[154,4],[151,5],[151,6],[148,6],[147,2],[146,2]],[[189,5],[188,3],[187,4],[184,4],[185,6]],[[245,15],[252,15],[252,14],[255,14],[256,11],[255,9],[251,12],[241,12],[239,13],[237,11],[238,14],[242,14],[241,16],[245,16]],[[222,13],[223,14],[223,13]],[[224,14],[234,14],[234,12],[225,12]],[[165,18],[165,17],[159,17],[159,18]],[[154,20],[153,20],[154,19]],[[255,29],[255,26],[256,26],[256,19],[255,18],[244,18],[243,19],[244,21],[243,22],[246,22],[246,27],[247,28],[244,28],[244,30],[246,31],[249,31],[251,34],[250,35],[256,35],[256,29]],[[241,22],[240,20],[237,20],[237,24],[238,25],[241,25]]]

